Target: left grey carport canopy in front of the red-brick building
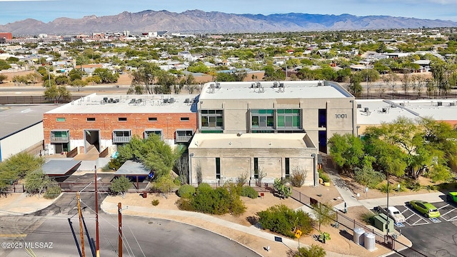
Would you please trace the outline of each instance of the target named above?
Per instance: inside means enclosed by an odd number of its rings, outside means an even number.
[[[75,161],[71,158],[62,158],[59,160],[46,161],[41,169],[47,176],[54,177],[56,178],[56,181],[61,182],[71,173],[78,170],[79,166],[81,166],[81,161]]]

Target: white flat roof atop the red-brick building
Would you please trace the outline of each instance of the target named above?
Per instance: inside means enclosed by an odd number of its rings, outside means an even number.
[[[64,104],[47,114],[174,114],[196,113],[196,94],[98,95]],[[112,101],[111,101],[112,100]]]

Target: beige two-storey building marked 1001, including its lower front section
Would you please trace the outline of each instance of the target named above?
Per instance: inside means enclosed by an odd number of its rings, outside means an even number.
[[[255,181],[307,172],[317,185],[318,151],[333,133],[356,133],[354,97],[330,81],[211,82],[199,97],[189,146],[191,183]],[[218,135],[216,135],[216,133]]]

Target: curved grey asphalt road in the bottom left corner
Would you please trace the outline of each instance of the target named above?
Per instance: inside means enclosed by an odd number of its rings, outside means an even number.
[[[0,238],[0,256],[29,256],[25,246],[32,246],[36,256],[79,256],[75,237],[80,241],[78,216],[9,217],[0,221],[2,233],[24,233],[18,238]],[[94,216],[84,218],[89,236],[94,241]],[[99,215],[100,256],[117,256],[117,216]],[[124,216],[124,256],[258,256],[235,241],[201,228],[174,221]],[[32,225],[31,225],[32,224]],[[4,235],[2,235],[4,236]],[[85,238],[86,256],[92,256]]]

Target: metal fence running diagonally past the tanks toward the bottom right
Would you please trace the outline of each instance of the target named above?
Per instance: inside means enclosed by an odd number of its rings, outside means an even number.
[[[295,199],[296,201],[299,201],[300,203],[303,203],[304,205],[313,208],[314,205],[318,204],[319,201],[311,198],[309,196],[306,196],[305,194],[301,193],[300,191],[296,191],[295,189],[292,188],[292,195],[291,198]],[[338,222],[341,226],[344,226],[345,228],[350,229],[351,231],[354,230],[354,228],[363,228],[364,231],[373,233],[375,236],[375,241],[381,246],[384,246],[388,249],[391,249],[398,253],[401,256],[406,256],[406,257],[426,257],[426,254],[421,253],[420,251],[417,251],[409,246],[406,246],[404,243],[401,243],[400,241],[396,240],[396,238],[393,238],[392,236],[387,236],[379,233],[378,231],[374,230],[373,228],[368,228],[368,226],[365,226],[364,224],[358,223],[356,220],[353,218],[348,218],[347,216],[343,215],[342,213],[339,213],[336,211],[336,218],[333,219],[333,221]]]

